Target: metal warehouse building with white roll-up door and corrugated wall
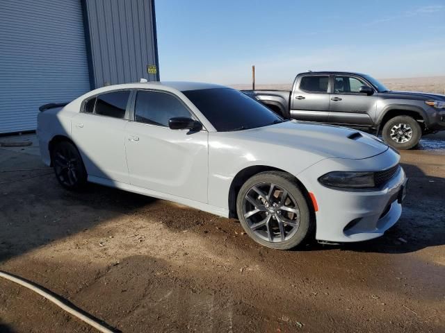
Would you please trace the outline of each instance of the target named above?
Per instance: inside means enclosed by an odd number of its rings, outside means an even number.
[[[159,80],[154,0],[1,0],[0,133],[35,130],[38,107]]]

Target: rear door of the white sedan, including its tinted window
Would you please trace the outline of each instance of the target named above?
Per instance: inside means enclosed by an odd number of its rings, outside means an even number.
[[[92,97],[72,118],[72,139],[88,176],[129,183],[125,126],[130,94],[130,90],[121,90]]]

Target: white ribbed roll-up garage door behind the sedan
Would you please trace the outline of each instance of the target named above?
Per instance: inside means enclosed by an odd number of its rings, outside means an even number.
[[[0,1],[0,133],[90,90],[80,0]]]

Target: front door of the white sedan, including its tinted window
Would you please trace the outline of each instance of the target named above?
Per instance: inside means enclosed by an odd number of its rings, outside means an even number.
[[[172,117],[191,117],[168,92],[139,90],[134,121],[127,124],[131,185],[207,203],[208,133],[171,130]]]

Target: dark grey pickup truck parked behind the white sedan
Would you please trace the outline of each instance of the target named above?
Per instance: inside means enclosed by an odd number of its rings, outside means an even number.
[[[308,71],[292,90],[243,90],[284,118],[375,131],[397,149],[445,130],[445,95],[394,92],[366,74]]]

